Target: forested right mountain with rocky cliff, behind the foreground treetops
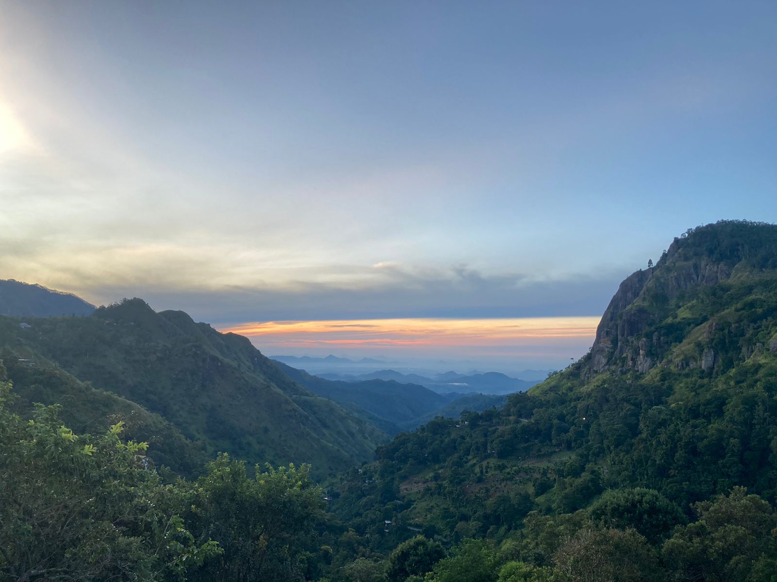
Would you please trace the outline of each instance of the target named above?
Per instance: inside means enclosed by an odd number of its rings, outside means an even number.
[[[412,531],[383,535],[384,519],[498,538],[528,511],[569,514],[606,490],[656,490],[689,515],[734,486],[774,501],[777,226],[688,231],[622,283],[589,355],[463,420],[379,449],[343,480],[337,511],[391,547]]]

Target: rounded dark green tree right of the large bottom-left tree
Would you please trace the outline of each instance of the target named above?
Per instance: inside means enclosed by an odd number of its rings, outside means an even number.
[[[250,477],[246,464],[222,454],[186,487],[184,518],[198,540],[214,539],[223,553],[188,580],[297,580],[301,553],[323,519],[322,493],[309,467],[267,466]]]

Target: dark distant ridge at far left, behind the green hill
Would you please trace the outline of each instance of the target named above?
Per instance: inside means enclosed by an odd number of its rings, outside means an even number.
[[[53,291],[14,279],[0,279],[0,315],[12,317],[59,317],[90,315],[95,306],[71,293]]]

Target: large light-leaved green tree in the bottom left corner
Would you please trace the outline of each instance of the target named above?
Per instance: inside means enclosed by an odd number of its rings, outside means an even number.
[[[195,542],[175,491],[141,466],[145,443],[78,436],[58,406],[24,421],[0,382],[0,580],[172,580],[218,553]]]

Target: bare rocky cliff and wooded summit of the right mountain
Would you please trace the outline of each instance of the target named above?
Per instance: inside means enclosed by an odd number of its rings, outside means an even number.
[[[775,257],[777,229],[771,225],[729,221],[675,238],[655,267],[629,275],[612,297],[591,348],[589,377],[605,370],[648,372],[671,348],[671,338],[659,327],[673,310],[681,303],[709,301],[704,288],[724,282],[733,288],[771,278]],[[715,362],[710,349],[676,365],[711,369]]]

